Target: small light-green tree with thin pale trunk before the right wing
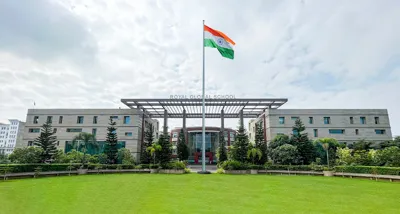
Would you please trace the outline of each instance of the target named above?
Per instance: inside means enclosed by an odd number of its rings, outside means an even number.
[[[324,144],[327,145],[324,146]],[[322,164],[327,164],[328,167],[329,165],[335,164],[336,151],[339,146],[339,143],[334,138],[319,138],[314,141],[316,157],[320,158],[322,160]]]

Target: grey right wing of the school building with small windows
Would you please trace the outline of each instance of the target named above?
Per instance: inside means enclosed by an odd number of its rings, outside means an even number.
[[[362,139],[375,143],[392,139],[386,109],[270,109],[250,120],[250,140],[254,141],[256,124],[263,127],[267,141],[279,134],[290,136],[297,118],[312,140],[329,137],[352,144]]]

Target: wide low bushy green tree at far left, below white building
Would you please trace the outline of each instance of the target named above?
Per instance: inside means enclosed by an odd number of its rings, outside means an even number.
[[[13,153],[8,156],[8,159],[10,159],[12,163],[40,163],[42,153],[42,148],[34,146],[16,148]]]

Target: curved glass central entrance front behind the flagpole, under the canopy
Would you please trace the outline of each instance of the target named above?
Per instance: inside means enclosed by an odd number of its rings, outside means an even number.
[[[206,128],[206,160],[208,163],[216,163],[216,152],[219,146],[220,127],[205,127]],[[172,155],[177,155],[177,142],[179,133],[182,128],[174,128],[171,130],[170,137],[172,143]],[[235,141],[236,131],[231,128],[224,128],[225,146],[228,148]],[[201,162],[202,151],[202,127],[187,127],[186,128],[186,144],[189,148],[189,163],[198,164]]]

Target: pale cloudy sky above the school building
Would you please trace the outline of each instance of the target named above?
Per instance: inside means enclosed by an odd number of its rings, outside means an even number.
[[[2,0],[0,122],[25,121],[34,102],[126,108],[121,98],[201,94],[205,20],[236,42],[234,60],[206,49],[207,94],[288,98],[282,108],[384,108],[400,135],[398,8],[397,0]],[[175,126],[181,120],[169,120]]]

